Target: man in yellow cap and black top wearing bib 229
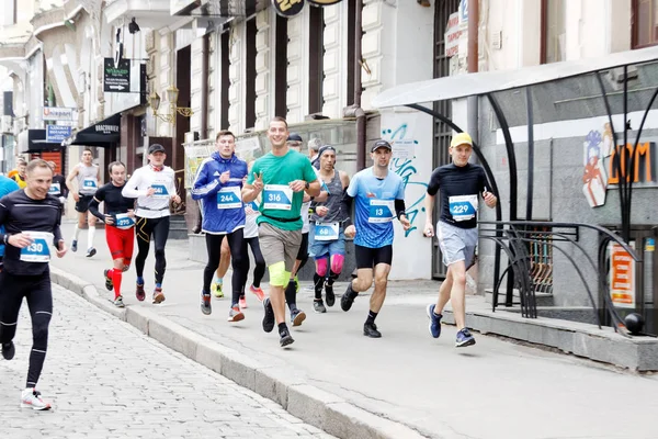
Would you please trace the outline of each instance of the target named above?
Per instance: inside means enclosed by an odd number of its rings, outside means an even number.
[[[466,328],[466,271],[475,263],[477,247],[478,194],[485,204],[495,207],[498,199],[489,191],[487,177],[481,166],[468,162],[473,154],[473,140],[466,133],[453,136],[450,143],[452,164],[441,166],[432,172],[426,194],[424,235],[434,236],[432,212],[434,198],[441,191],[441,214],[436,230],[443,263],[447,266],[445,281],[439,289],[435,304],[427,307],[430,317],[430,334],[434,338],[441,335],[443,307],[451,301],[457,325],[456,347],[475,345],[475,338]]]

